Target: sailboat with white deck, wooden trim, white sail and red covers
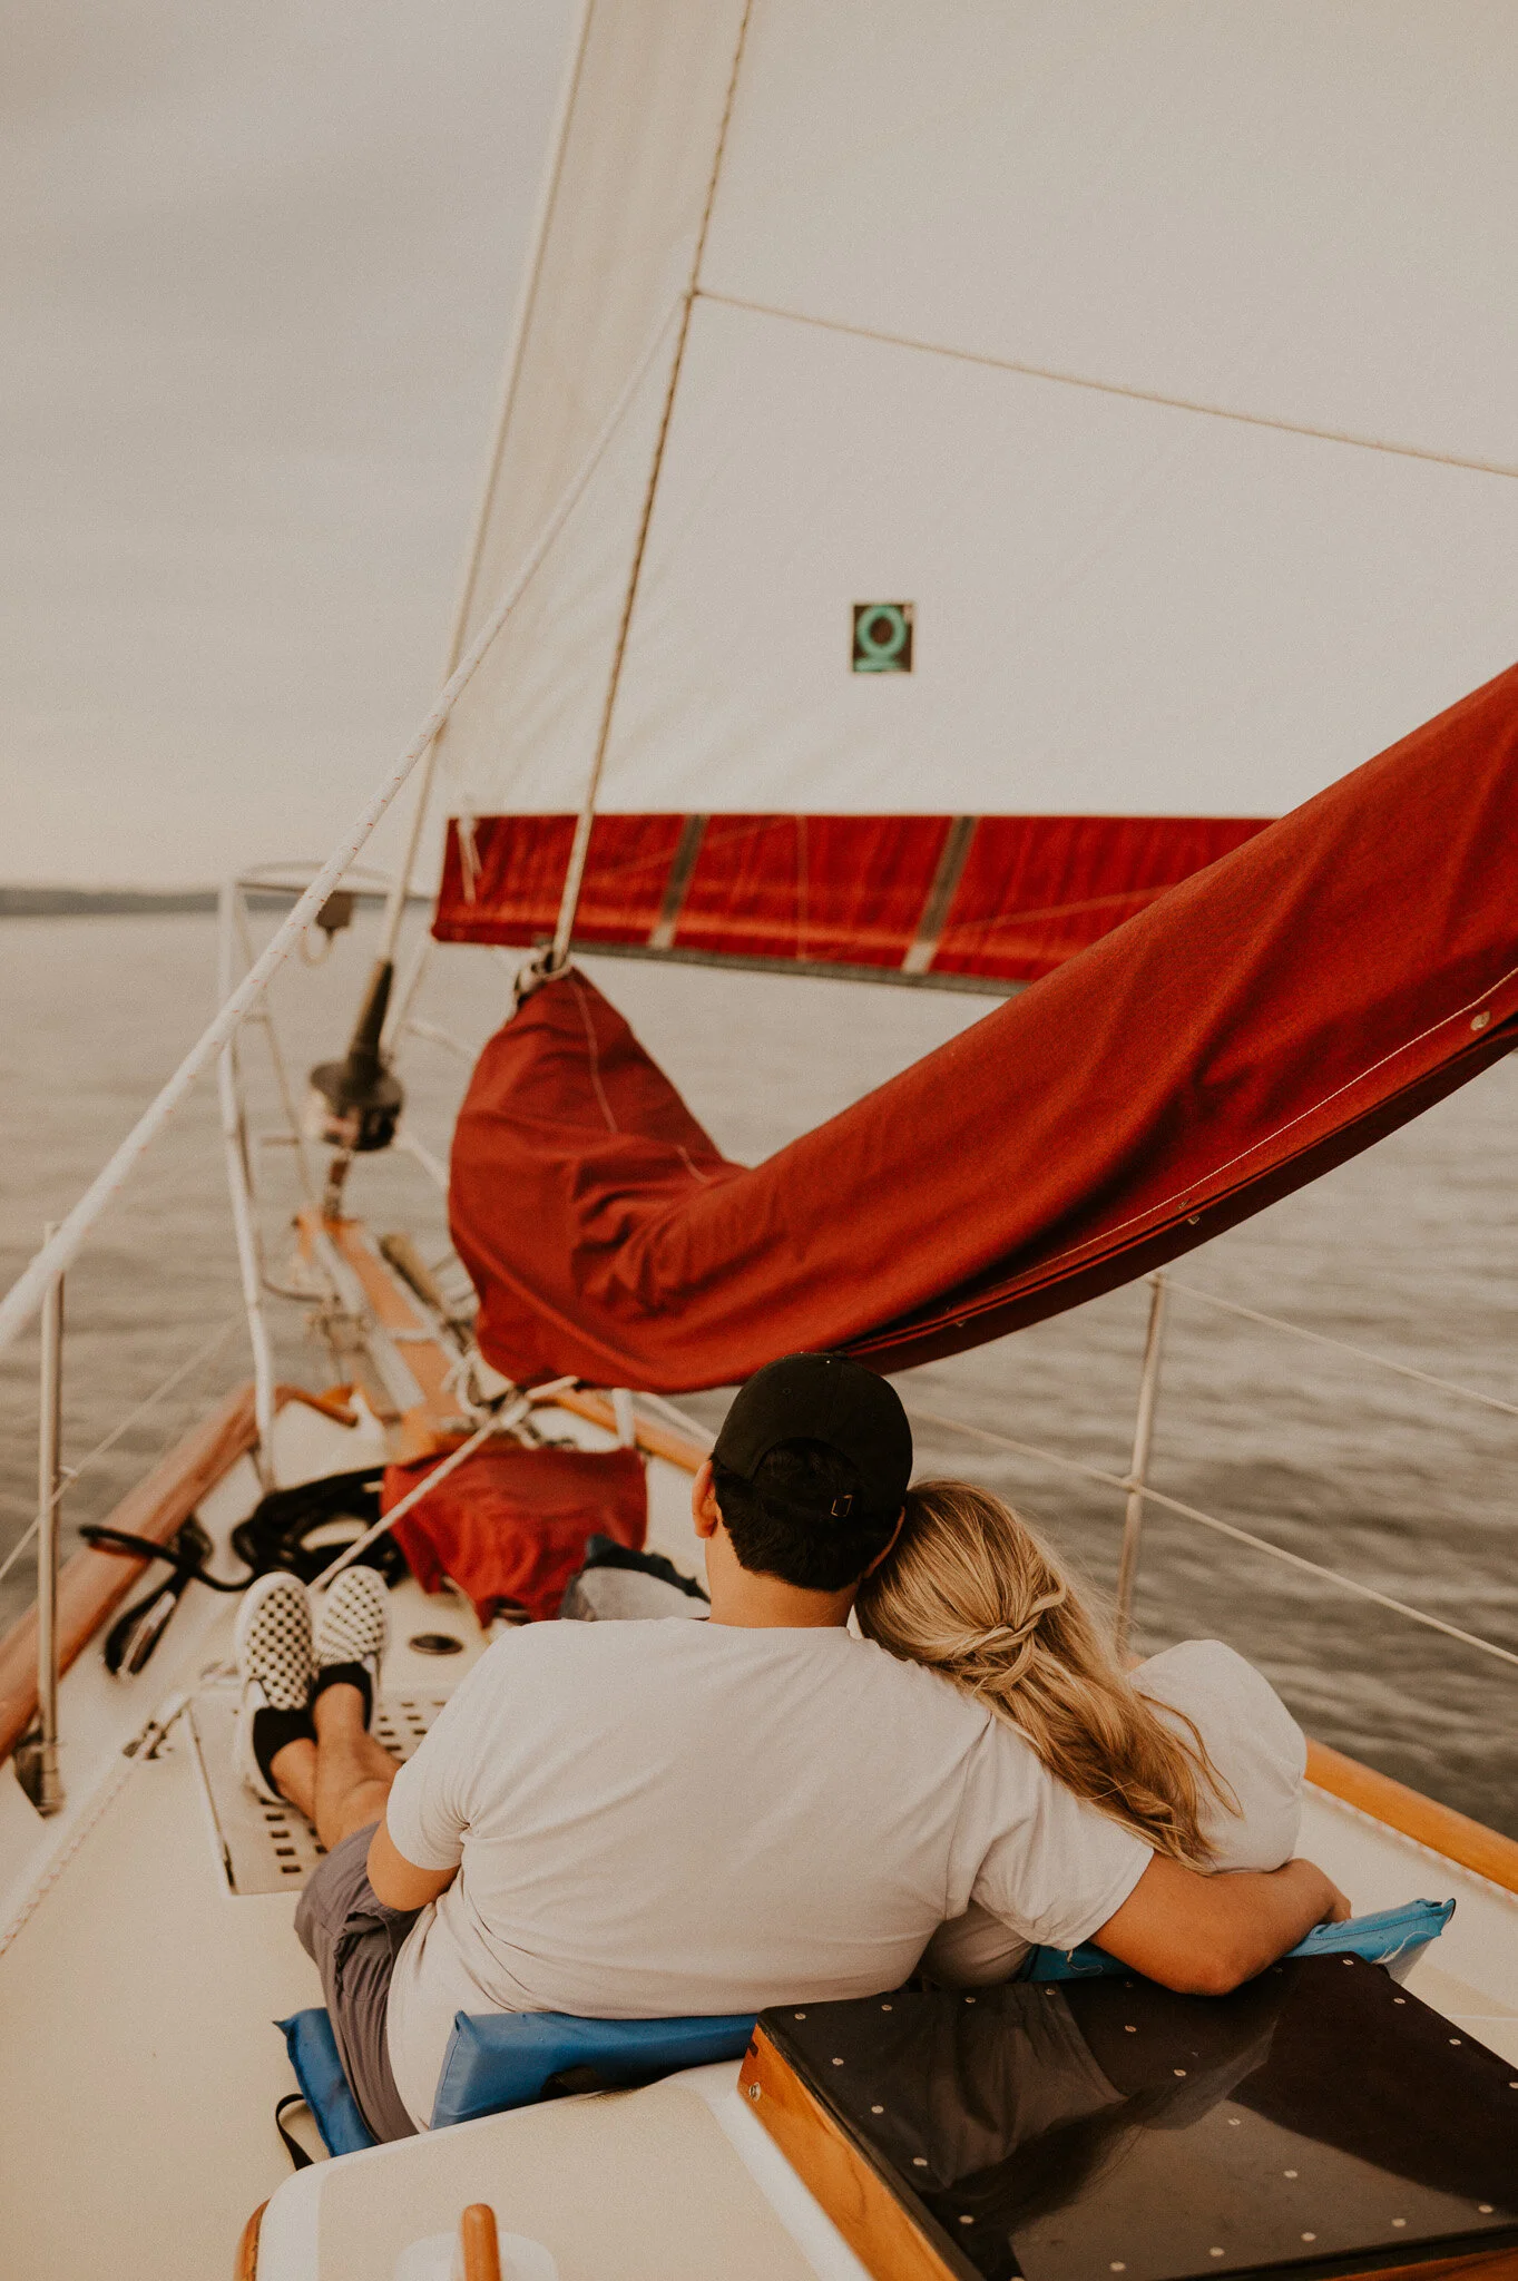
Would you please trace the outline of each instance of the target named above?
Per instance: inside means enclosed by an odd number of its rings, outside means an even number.
[[[1085,1469],[1126,1501],[1131,1594],[1167,1503],[1165,1266],[1513,1042],[1507,30],[1422,0],[581,9],[444,689],[258,953],[228,887],[217,1020],[0,1305],[43,1357],[39,1597],[0,1642],[7,2274],[1513,2270],[1511,2194],[1456,2213],[1438,2172],[1413,2215],[1370,2210],[1381,2172],[1329,2124],[1336,2187],[1290,2201],[1279,2162],[1270,2224],[1201,2197],[1192,2247],[1074,2235],[1060,2265],[1003,2229],[982,2254],[839,2108],[843,2053],[786,2023],[394,2146],[296,2114],[289,2174],[271,2021],[317,2003],[289,1930],[317,1850],[239,1786],[235,1599],[194,1583],[242,1574],[278,1499],[330,1492],[328,1567],[399,1540],[378,1731],[403,1754],[501,1622],[552,1613],[460,1590],[438,1549],[476,1460],[643,1471],[629,1533],[691,1574],[682,1394],[795,1346],[903,1369],[1149,1275],[1133,1471]],[[280,1152],[305,1182],[285,1266],[242,1031],[342,926],[406,785],[376,969]],[[520,953],[447,1170],[406,1127],[429,801],[429,940]],[[577,953],[998,1004],[745,1168]],[[62,1280],[212,1072],[253,1375],[132,1489],[114,1551],[59,1567]],[[451,1184],[447,1268],[367,1225],[394,1147]],[[280,1293],[317,1309],[333,1385],[278,1382]],[[176,1551],[125,1631],[123,1535]],[[1427,2142],[1475,2146],[1497,2124],[1477,2099],[1466,2128],[1438,2067],[1518,2108],[1518,1845],[1313,1745],[1301,1848],[1356,1911],[1456,1902],[1370,2000],[1377,2032],[1395,2005],[1431,2037]],[[1217,2060],[1224,2137],[1263,2114],[1233,2101],[1256,2062]]]

